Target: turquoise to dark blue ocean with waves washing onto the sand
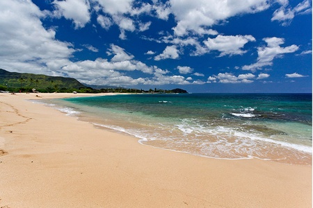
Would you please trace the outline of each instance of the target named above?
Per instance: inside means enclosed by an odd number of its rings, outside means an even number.
[[[148,146],[312,165],[312,94],[118,94],[45,102]]]

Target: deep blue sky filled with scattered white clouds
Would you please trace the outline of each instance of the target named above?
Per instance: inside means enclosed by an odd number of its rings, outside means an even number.
[[[136,89],[312,93],[312,1],[0,1],[0,68]]]

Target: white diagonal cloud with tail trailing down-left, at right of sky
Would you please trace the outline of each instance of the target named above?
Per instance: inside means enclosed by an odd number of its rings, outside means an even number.
[[[263,40],[267,43],[267,46],[257,48],[257,62],[243,66],[243,70],[255,71],[256,69],[262,69],[264,66],[271,66],[274,58],[281,57],[284,53],[294,53],[299,49],[296,45],[280,47],[281,44],[284,44],[283,38],[266,37]]]

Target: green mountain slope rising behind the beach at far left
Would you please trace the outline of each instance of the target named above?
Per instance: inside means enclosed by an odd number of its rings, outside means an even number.
[[[74,78],[17,73],[0,69],[0,90],[31,92],[33,88],[38,92],[72,92],[90,87],[86,87]]]

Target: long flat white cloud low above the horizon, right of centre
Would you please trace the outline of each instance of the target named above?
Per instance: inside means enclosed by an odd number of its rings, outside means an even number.
[[[255,75],[252,73],[240,74],[239,76],[234,76],[232,73],[218,73],[218,75],[209,76],[208,83],[216,83],[216,80],[219,80],[218,83],[253,83],[253,79]]]

